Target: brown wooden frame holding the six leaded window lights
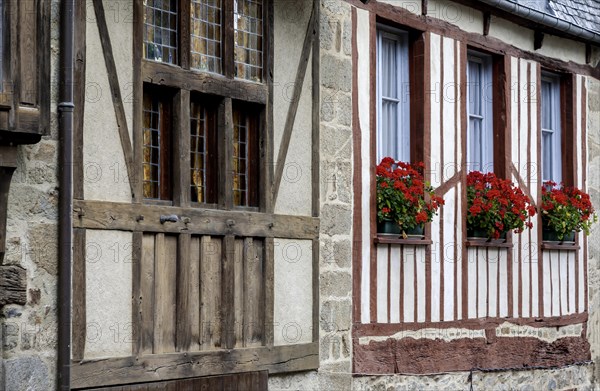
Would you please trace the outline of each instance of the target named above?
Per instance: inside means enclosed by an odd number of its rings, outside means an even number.
[[[179,25],[178,25],[178,62],[177,64],[168,64],[160,61],[154,61],[144,58],[143,40],[144,40],[144,5],[141,0],[136,1],[134,8],[134,89],[136,96],[142,96],[142,90],[148,86],[162,86],[175,91],[173,98],[173,118],[172,118],[172,151],[174,158],[173,189],[172,197],[166,202],[159,204],[174,206],[195,206],[206,207],[209,209],[219,208],[225,210],[249,210],[260,212],[272,212],[270,198],[272,195],[267,189],[265,178],[268,175],[267,151],[266,146],[270,145],[267,137],[270,136],[271,124],[268,121],[268,111],[270,110],[270,57],[272,54],[272,44],[270,34],[272,31],[272,20],[269,16],[270,5],[265,2],[263,5],[263,72],[262,82],[258,83],[234,76],[234,57],[233,57],[233,0],[223,2],[223,32],[231,34],[231,40],[223,40],[222,65],[223,75],[190,69],[190,12],[189,0],[179,0]],[[187,20],[187,22],[185,22]],[[231,23],[230,23],[231,22]],[[228,32],[229,31],[229,32]],[[231,41],[227,43],[228,41]],[[183,48],[187,48],[182,50]],[[191,178],[190,178],[190,104],[192,96],[201,95],[216,105],[216,122],[218,136],[218,186],[216,203],[191,202]],[[233,103],[235,102],[235,103]],[[233,105],[238,102],[243,105],[251,105],[257,113],[257,123],[259,128],[258,140],[256,141],[259,150],[256,158],[258,164],[257,193],[253,194],[252,206],[235,206],[233,202],[233,170],[232,170],[232,110]],[[141,143],[141,99],[136,99],[134,103],[134,154],[135,170],[137,177],[142,178],[142,143]],[[156,203],[151,199],[145,199],[142,191],[142,180],[136,181],[136,190],[134,191],[134,201],[144,203]],[[231,190],[228,190],[231,189]],[[267,208],[269,206],[269,208]]]

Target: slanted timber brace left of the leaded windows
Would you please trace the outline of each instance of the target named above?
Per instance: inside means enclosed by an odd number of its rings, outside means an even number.
[[[115,116],[117,118],[117,127],[119,128],[121,147],[123,148],[123,157],[125,158],[125,166],[127,168],[127,175],[129,177],[131,195],[132,197],[135,197],[133,147],[131,145],[131,140],[129,139],[129,130],[127,127],[127,118],[125,116],[125,107],[123,106],[123,98],[121,97],[119,75],[117,73],[117,66],[115,65],[112,44],[110,42],[110,34],[108,32],[108,26],[106,24],[104,5],[102,4],[102,0],[94,0],[93,2],[94,13],[96,15],[96,23],[98,24],[98,33],[100,34],[100,42],[102,43],[102,53],[104,53],[104,63],[106,64],[106,71],[108,72],[108,84],[110,86],[110,93],[115,109]]]

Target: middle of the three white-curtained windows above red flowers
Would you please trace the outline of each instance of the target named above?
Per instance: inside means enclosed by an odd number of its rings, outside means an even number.
[[[494,171],[492,57],[469,51],[467,63],[467,164],[469,170]]]

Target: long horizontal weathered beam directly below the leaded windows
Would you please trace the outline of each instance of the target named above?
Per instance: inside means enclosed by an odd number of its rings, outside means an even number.
[[[75,200],[73,208],[74,228],[307,240],[319,235],[319,219],[309,216],[82,200]],[[170,215],[178,221],[160,222]]]

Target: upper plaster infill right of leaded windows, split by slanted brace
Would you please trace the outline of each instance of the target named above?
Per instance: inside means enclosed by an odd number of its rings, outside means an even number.
[[[302,0],[276,1],[274,5],[273,130],[276,164],[311,7]],[[308,60],[296,112],[275,213],[310,215],[312,211],[312,55]]]

